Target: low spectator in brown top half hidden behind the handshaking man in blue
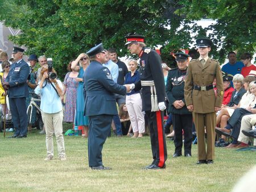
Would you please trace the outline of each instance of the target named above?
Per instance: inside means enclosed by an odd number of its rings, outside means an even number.
[[[123,135],[127,135],[129,137],[133,136],[133,133],[131,133],[132,132],[131,122],[130,122],[128,110],[125,103],[119,106],[118,115],[121,121]]]

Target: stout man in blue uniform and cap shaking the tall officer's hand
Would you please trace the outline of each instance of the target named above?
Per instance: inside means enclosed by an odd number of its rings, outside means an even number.
[[[118,85],[112,80],[108,68],[102,66],[106,55],[101,44],[90,49],[90,65],[84,73],[85,115],[89,119],[88,158],[92,169],[110,169],[102,164],[102,148],[110,131],[112,119],[117,115],[115,94],[126,94],[130,86]]]

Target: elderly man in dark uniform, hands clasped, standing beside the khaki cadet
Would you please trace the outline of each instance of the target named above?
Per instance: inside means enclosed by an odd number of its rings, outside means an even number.
[[[189,55],[176,53],[177,68],[168,72],[166,93],[169,101],[169,112],[172,114],[174,126],[175,152],[172,157],[181,156],[184,131],[184,156],[191,157],[192,144],[192,113],[188,111],[184,98],[184,81],[187,73]]]

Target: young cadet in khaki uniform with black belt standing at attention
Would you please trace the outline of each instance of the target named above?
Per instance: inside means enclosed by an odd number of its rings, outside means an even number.
[[[210,59],[208,53],[213,44],[210,39],[196,40],[199,59],[191,60],[185,79],[185,103],[193,112],[196,126],[198,160],[197,164],[213,164],[214,159],[214,127],[216,111],[220,110],[224,89],[220,64]],[[214,94],[213,80],[216,78],[217,95]],[[207,150],[205,149],[205,130],[207,131]]]

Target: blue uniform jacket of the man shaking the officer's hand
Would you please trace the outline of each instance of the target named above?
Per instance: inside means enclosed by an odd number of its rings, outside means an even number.
[[[85,115],[117,115],[114,93],[125,95],[126,87],[112,80],[108,68],[92,61],[84,73]]]

